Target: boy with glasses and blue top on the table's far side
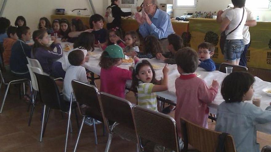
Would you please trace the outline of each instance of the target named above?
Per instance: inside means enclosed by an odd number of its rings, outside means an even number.
[[[216,64],[210,57],[214,54],[215,47],[208,42],[203,42],[198,46],[199,50],[199,67],[207,71],[215,71]]]

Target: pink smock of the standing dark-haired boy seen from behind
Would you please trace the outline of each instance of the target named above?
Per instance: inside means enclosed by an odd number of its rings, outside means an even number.
[[[181,117],[199,126],[208,128],[209,108],[207,103],[211,103],[215,99],[218,88],[208,88],[204,81],[194,73],[180,75],[175,80],[175,87],[177,96],[175,120],[179,137],[181,137]]]

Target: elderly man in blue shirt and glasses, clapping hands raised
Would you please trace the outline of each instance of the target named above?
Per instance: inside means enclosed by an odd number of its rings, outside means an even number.
[[[157,0],[144,0],[142,15],[135,14],[139,23],[139,32],[143,37],[153,35],[160,40],[164,52],[168,51],[168,35],[175,33],[168,14],[158,9]]]

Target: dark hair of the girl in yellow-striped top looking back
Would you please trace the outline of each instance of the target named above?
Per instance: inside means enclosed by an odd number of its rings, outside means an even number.
[[[144,66],[149,66],[152,70],[152,84],[159,84],[159,81],[156,80],[156,75],[155,75],[155,71],[152,67],[152,64],[148,61],[148,60],[142,60],[141,62],[136,64],[136,69],[133,70],[133,74],[132,74],[132,85],[131,85],[131,89],[134,91],[137,91],[137,87],[138,87],[138,79],[137,79],[137,75],[139,74],[139,71],[142,67]]]

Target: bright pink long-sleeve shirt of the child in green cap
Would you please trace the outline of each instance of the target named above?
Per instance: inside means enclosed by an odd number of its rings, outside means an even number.
[[[116,66],[109,69],[101,68],[100,79],[101,92],[125,98],[126,80],[132,79],[132,72]]]

